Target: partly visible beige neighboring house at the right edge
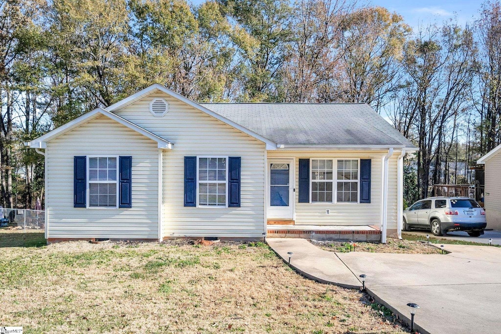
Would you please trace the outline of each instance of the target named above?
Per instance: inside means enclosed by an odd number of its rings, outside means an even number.
[[[485,165],[484,208],[487,228],[501,230],[501,145],[481,157]]]

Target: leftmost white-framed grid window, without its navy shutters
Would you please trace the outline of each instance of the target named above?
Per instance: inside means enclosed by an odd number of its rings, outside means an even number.
[[[89,207],[118,207],[117,157],[89,157]]]

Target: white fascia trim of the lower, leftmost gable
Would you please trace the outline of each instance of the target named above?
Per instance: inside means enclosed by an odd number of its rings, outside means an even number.
[[[82,124],[88,123],[92,121],[93,119],[98,118],[99,116],[106,116],[117,123],[120,123],[129,129],[132,129],[143,136],[156,141],[158,143],[158,148],[161,149],[172,149],[172,143],[169,142],[168,140],[163,139],[162,137],[159,137],[155,135],[154,133],[149,132],[148,130],[145,130],[141,128],[140,126],[118,116],[113,113],[110,113],[109,111],[106,111],[102,108],[96,108],[93,111],[90,111],[73,121],[70,121],[54,130],[51,132],[46,133],[45,135],[38,137],[37,139],[32,140],[31,142],[25,143],[26,146],[32,147],[32,148],[46,148],[47,147],[47,142],[67,133],[68,131],[81,126]]]

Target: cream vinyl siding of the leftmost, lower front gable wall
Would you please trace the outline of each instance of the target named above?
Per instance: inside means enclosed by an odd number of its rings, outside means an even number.
[[[158,238],[155,141],[101,116],[48,142],[46,154],[49,238]],[[73,207],[73,158],[92,155],[132,156],[132,208]]]

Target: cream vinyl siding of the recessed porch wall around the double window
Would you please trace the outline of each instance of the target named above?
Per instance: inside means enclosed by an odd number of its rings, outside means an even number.
[[[268,151],[268,159],[294,158],[296,178],[295,223],[296,225],[376,225],[381,223],[382,157],[388,151]],[[388,177],[388,230],[397,228],[397,157],[395,152],[389,160]],[[371,159],[370,203],[299,203],[299,159]],[[312,172],[310,162],[310,174]],[[358,168],[360,169],[360,162]],[[334,171],[336,174],[336,170]],[[360,174],[360,173],[358,173]],[[311,175],[310,175],[311,177]],[[336,177],[335,177],[336,178]],[[358,178],[360,176],[358,175]],[[311,188],[310,188],[311,191]],[[330,214],[326,214],[326,209]]]

